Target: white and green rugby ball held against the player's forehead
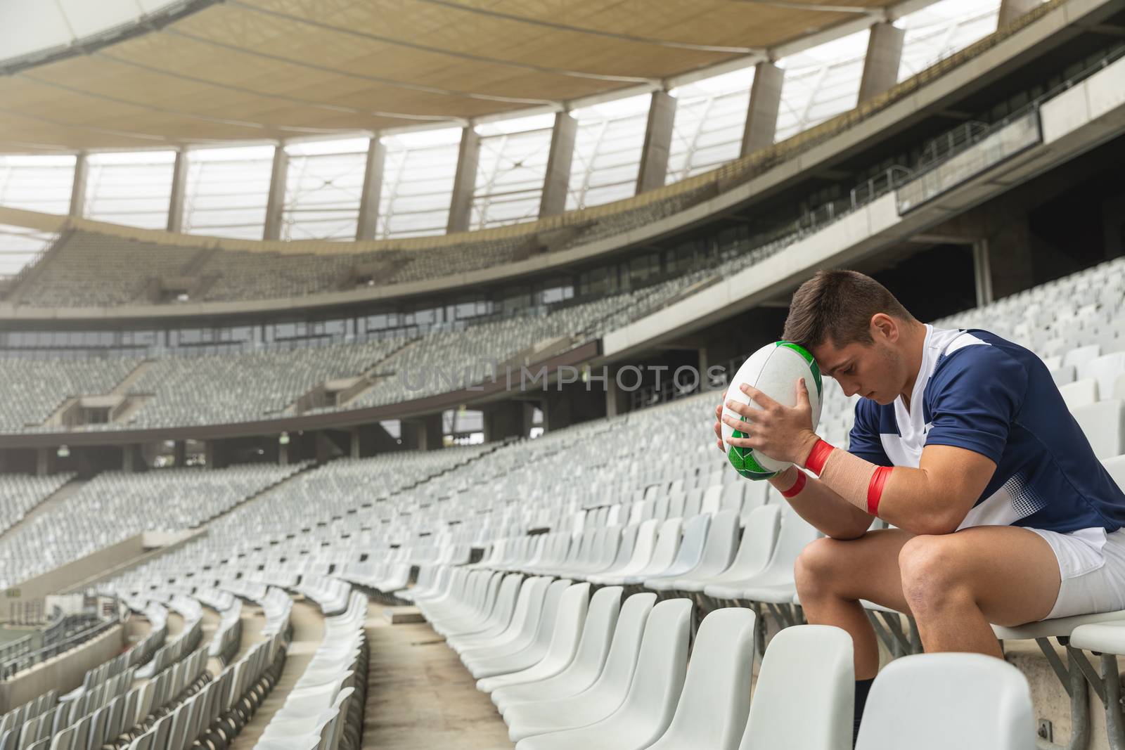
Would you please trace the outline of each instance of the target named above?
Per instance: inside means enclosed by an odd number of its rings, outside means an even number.
[[[741,390],[742,383],[749,383],[782,406],[796,406],[798,378],[804,378],[804,385],[809,390],[812,428],[816,430],[820,423],[820,401],[824,397],[820,368],[817,367],[812,354],[804,347],[788,341],[766,344],[750,354],[727,386],[727,400],[741,401],[749,404],[750,408],[760,409],[762,407],[752,401],[750,397]],[[742,418],[726,403],[723,403],[722,412],[736,419]],[[747,479],[768,479],[793,466],[789,461],[775,461],[752,448],[736,448],[727,443],[728,437],[744,436],[741,432],[722,423],[722,441],[723,445],[727,446],[727,458],[738,473]]]

